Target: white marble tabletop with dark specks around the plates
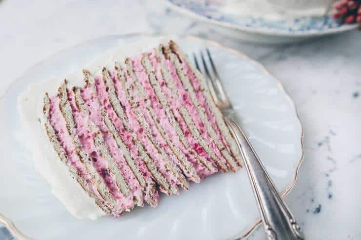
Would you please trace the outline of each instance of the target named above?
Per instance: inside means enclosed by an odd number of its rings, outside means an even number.
[[[282,82],[299,111],[305,154],[286,202],[307,239],[361,239],[360,32],[280,46],[251,45],[222,37],[160,0],[0,0],[0,31],[0,94],[48,55],[107,35],[192,34],[244,52]],[[262,229],[248,239],[265,239]]]

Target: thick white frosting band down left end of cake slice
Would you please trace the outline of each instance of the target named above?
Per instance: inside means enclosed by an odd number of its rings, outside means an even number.
[[[55,86],[60,86],[60,80],[48,80],[29,86],[18,99],[20,124],[24,135],[27,136],[26,145],[33,154],[34,165],[40,175],[50,184],[52,193],[60,199],[77,218],[96,219],[103,212],[89,198],[75,181],[67,167],[60,162],[59,156],[50,143],[43,124],[41,112],[45,92],[54,92]]]

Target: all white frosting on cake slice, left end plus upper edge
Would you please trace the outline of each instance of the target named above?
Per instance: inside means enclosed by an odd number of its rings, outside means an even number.
[[[165,41],[166,39],[164,39]],[[115,62],[123,62],[126,56],[132,56],[139,52],[158,46],[163,39],[154,38],[147,42],[137,42],[127,46],[121,46],[111,50],[97,58],[84,68],[94,75],[100,75],[103,67],[114,68]],[[83,86],[82,69],[65,77],[68,87]],[[27,139],[24,141],[31,150],[35,167],[40,175],[51,186],[53,194],[66,206],[68,211],[77,218],[97,219],[105,213],[90,198],[69,173],[67,167],[60,159],[48,140],[43,123],[43,97],[45,92],[49,95],[56,94],[64,78],[49,79],[35,83],[28,87],[18,99],[18,110],[22,131]]]

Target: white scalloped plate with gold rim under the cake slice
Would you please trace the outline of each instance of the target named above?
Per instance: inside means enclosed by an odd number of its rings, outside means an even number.
[[[109,49],[153,37],[103,37],[61,51],[31,67],[2,96],[0,212],[25,235],[38,240],[233,239],[245,236],[259,222],[244,168],[192,184],[178,196],[162,196],[155,209],[137,208],[121,218],[98,221],[75,219],[36,173],[29,152],[19,142],[23,137],[17,112],[19,94],[30,83],[67,75]],[[239,52],[195,37],[172,38],[185,51],[210,48],[241,126],[278,189],[283,195],[287,193],[301,164],[302,127],[281,84]]]

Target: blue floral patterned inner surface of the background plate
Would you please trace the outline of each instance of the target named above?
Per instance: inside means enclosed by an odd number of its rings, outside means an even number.
[[[242,29],[264,29],[288,34],[304,34],[337,29],[343,26],[332,16],[302,17],[290,20],[270,20],[265,18],[240,17],[220,11],[220,2],[215,0],[167,0],[168,2],[187,9],[194,14],[228,23]]]

